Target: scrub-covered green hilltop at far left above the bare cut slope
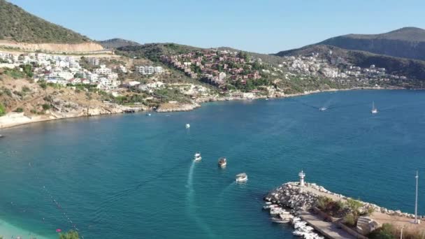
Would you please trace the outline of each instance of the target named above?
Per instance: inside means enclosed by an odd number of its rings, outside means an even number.
[[[84,43],[90,41],[74,31],[36,17],[0,0],[0,40],[20,43]]]

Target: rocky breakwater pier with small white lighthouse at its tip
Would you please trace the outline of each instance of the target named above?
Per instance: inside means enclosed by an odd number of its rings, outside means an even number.
[[[280,205],[282,208],[291,208],[294,216],[300,217],[326,238],[367,239],[368,233],[379,229],[382,224],[391,224],[394,229],[404,229],[405,232],[413,233],[420,232],[421,235],[425,235],[425,224],[420,224],[419,220],[424,217],[400,210],[389,210],[373,203],[357,201],[336,194],[315,183],[305,182],[303,171],[298,176],[299,182],[282,184],[268,193],[264,200]],[[339,203],[340,209],[329,210],[329,205],[336,203]],[[356,204],[357,207],[350,206],[353,204]],[[349,211],[347,212],[347,210]],[[354,224],[345,221],[347,215],[353,215]],[[354,215],[356,216],[354,217]]]

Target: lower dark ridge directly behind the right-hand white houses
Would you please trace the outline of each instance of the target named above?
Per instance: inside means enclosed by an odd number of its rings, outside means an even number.
[[[411,80],[415,80],[415,85],[420,85],[421,87],[422,82],[425,80],[425,61],[415,59],[390,57],[359,50],[346,50],[331,45],[308,45],[303,48],[278,52],[276,55],[280,57],[310,56],[312,53],[326,55],[330,51],[332,53],[331,55],[328,54],[329,58],[339,58],[354,66],[365,68],[370,65],[383,67],[389,73],[405,75]]]

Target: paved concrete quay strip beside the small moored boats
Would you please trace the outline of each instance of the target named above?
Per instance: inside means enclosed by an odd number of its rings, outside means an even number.
[[[310,212],[302,212],[300,215],[301,219],[307,222],[310,226],[312,226],[316,231],[322,233],[326,238],[332,239],[355,239],[354,236],[347,233],[343,229],[338,229],[335,224],[331,222],[324,222],[321,217],[318,215],[314,215]]]

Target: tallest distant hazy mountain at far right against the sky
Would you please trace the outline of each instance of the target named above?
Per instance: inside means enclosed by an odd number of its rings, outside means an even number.
[[[425,30],[403,27],[384,34],[348,34],[329,38],[319,45],[362,50],[391,57],[425,60]]]

